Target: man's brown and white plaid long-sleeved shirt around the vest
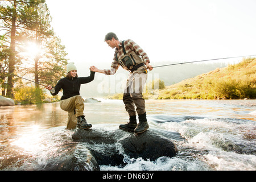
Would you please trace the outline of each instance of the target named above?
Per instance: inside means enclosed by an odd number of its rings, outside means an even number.
[[[137,55],[142,57],[142,60],[144,61],[144,63],[150,63],[150,60],[149,60],[146,52],[144,52],[143,49],[138,46],[138,44],[133,42],[133,40],[130,40],[130,39],[125,40],[125,42],[123,44],[125,46],[126,54],[134,51],[135,53],[137,53]],[[114,53],[114,58],[113,58],[114,61],[111,64],[111,68],[104,69],[104,72],[106,75],[114,75],[115,72],[117,72],[117,69],[119,67],[118,60],[120,60],[121,57],[123,57],[123,55],[124,55],[123,48],[122,48],[122,41],[119,41],[118,46],[119,46],[118,48],[115,48],[115,53]],[[117,54],[118,60],[116,59],[116,54]]]

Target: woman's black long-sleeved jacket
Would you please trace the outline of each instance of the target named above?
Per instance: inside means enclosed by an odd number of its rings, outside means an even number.
[[[56,96],[60,89],[63,89],[63,96],[60,98],[60,100],[65,100],[69,97],[77,96],[79,95],[80,86],[81,84],[86,84],[94,79],[95,72],[90,71],[90,76],[88,77],[75,77],[75,78],[61,78],[55,88],[55,93],[51,93],[52,96]]]

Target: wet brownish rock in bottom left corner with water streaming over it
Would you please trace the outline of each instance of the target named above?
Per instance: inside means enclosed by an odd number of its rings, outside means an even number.
[[[0,170],[7,171],[99,171],[91,152],[82,143],[65,143],[33,155],[17,152],[1,160]],[[57,149],[57,150],[56,150]],[[56,151],[55,151],[56,150]]]

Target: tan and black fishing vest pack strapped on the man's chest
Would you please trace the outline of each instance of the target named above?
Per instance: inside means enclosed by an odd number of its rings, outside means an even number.
[[[144,61],[134,51],[126,53],[124,42],[125,40],[122,41],[124,55],[121,57],[120,60],[118,60],[117,54],[115,55],[115,58],[117,59],[118,63],[121,65],[122,68],[133,72],[134,70],[137,70],[139,67],[143,66]]]

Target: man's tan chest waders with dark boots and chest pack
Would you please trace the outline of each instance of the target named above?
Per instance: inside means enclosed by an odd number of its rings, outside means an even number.
[[[134,71],[137,71],[140,67],[145,67],[144,71],[146,71],[146,65],[144,64],[141,57],[139,57],[134,51],[130,53],[126,53],[124,41],[122,41],[122,48],[124,55],[121,57],[120,60],[118,60],[117,54],[115,55],[118,63],[121,65],[122,68],[130,71],[133,73]],[[145,102],[142,97],[142,90],[143,85],[145,84],[147,80],[147,72],[142,71],[142,73],[135,73],[130,74],[129,78],[126,82],[126,89],[125,93],[123,93],[123,103],[125,104],[125,109],[129,113],[130,119],[129,123],[125,125],[119,125],[119,129],[126,130],[126,131],[133,131],[134,133],[143,133],[148,129],[148,123],[146,118],[146,110],[145,110]],[[145,74],[143,74],[145,73]],[[142,81],[144,80],[144,81]],[[130,86],[134,85],[134,82],[139,83],[138,90],[135,89],[135,92],[130,92]],[[136,85],[136,84],[135,84]],[[136,87],[136,86],[135,86]],[[137,125],[136,120],[136,111],[138,113],[139,117],[139,124]]]

